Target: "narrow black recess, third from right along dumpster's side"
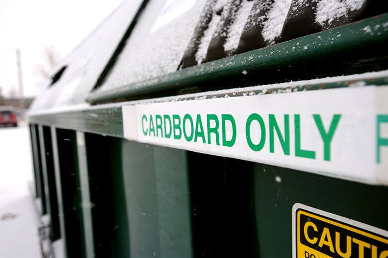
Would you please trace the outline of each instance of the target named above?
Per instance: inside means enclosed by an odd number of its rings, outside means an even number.
[[[67,257],[86,257],[76,133],[57,129],[56,135]]]

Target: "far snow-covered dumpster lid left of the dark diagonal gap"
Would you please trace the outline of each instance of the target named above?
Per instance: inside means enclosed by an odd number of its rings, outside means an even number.
[[[55,68],[30,110],[86,104],[143,0],[124,1]],[[112,29],[114,28],[114,29]]]

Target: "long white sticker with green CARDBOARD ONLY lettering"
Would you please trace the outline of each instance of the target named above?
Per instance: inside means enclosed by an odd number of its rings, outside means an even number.
[[[124,137],[387,185],[381,96],[387,86],[123,106]]]

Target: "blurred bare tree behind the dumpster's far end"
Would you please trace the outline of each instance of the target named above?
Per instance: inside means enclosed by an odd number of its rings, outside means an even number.
[[[48,46],[43,50],[43,61],[41,64],[36,66],[36,74],[40,77],[40,84],[47,82],[52,76],[52,72],[55,66],[59,63],[59,54],[55,50],[54,46]]]

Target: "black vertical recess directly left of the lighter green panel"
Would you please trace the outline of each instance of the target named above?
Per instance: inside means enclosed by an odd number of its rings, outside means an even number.
[[[129,257],[121,140],[85,133],[94,257]]]

